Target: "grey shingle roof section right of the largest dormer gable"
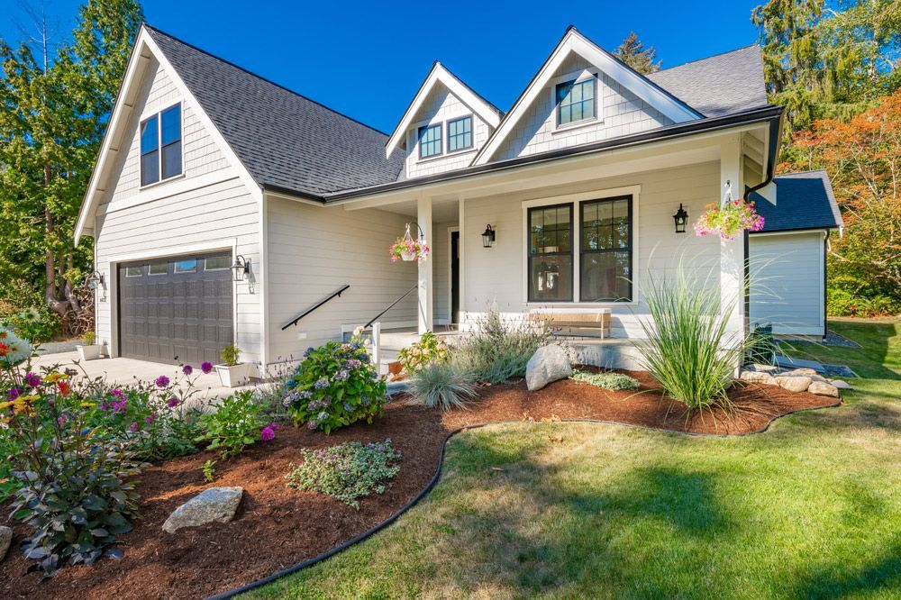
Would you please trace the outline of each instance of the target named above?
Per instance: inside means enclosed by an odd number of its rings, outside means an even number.
[[[769,104],[757,45],[665,68],[647,77],[707,117]]]

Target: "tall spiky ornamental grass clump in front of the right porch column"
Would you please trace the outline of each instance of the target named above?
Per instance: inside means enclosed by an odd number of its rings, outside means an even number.
[[[642,365],[690,410],[730,406],[726,390],[747,347],[729,334],[720,289],[707,283],[688,277],[680,264],[674,277],[651,275],[643,292],[652,323],[642,319]],[[733,306],[724,308],[732,313]]]

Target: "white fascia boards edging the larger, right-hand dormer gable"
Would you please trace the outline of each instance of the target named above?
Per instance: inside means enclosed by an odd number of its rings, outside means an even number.
[[[672,96],[662,91],[660,87],[655,86],[647,78],[642,77],[633,69],[614,59],[609,53],[599,48],[576,30],[569,30],[557,48],[551,52],[551,57],[544,63],[542,70],[532,78],[532,82],[526,87],[523,95],[516,101],[510,112],[505,115],[503,122],[496,129],[494,135],[472,159],[471,166],[484,165],[488,162],[488,159],[500,148],[506,136],[513,131],[516,123],[520,121],[529,106],[538,99],[542,90],[551,81],[551,77],[557,72],[563,61],[569,58],[571,53],[578,54],[578,56],[586,59],[593,67],[614,79],[614,81],[640,97],[648,105],[660,111],[660,113],[668,116],[674,123],[686,123],[687,121],[704,118],[704,115],[678,102]]]

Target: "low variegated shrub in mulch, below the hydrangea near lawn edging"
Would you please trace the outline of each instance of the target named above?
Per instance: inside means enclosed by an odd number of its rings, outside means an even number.
[[[349,441],[323,450],[300,450],[304,462],[291,465],[288,487],[331,495],[359,509],[359,498],[383,494],[397,475],[400,452],[391,440],[366,444]]]

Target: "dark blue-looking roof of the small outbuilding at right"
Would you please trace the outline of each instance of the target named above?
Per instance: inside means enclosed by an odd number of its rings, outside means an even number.
[[[775,206],[756,192],[750,198],[763,216],[763,232],[842,227],[842,213],[825,171],[778,175],[773,183]]]

